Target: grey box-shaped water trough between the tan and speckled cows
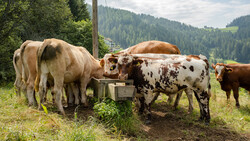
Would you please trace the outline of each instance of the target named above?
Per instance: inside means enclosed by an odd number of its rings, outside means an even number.
[[[95,79],[91,80],[91,87],[94,90],[94,96],[98,100],[109,97],[114,101],[133,100],[135,96],[135,86],[133,80],[119,79]]]

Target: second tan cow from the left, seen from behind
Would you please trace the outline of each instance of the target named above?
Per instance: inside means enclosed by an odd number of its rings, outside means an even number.
[[[27,90],[27,98],[29,106],[37,106],[37,101],[34,91],[34,83],[36,79],[36,59],[37,50],[43,42],[40,41],[25,41],[20,47],[20,56],[22,62],[22,81],[25,83]]]

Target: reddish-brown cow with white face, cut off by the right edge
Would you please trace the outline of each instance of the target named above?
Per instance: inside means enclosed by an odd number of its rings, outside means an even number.
[[[221,89],[226,92],[227,100],[233,90],[236,106],[239,108],[239,87],[250,91],[250,64],[212,64],[215,70],[216,80],[219,81]]]

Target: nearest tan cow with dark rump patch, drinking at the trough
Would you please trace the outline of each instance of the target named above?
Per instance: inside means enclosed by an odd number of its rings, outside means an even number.
[[[81,102],[87,106],[86,87],[92,77],[102,78],[103,68],[84,47],[76,47],[63,40],[45,39],[37,52],[36,91],[39,90],[40,104],[43,103],[48,76],[53,78],[53,92],[58,110],[65,116],[61,103],[64,83],[79,83]]]

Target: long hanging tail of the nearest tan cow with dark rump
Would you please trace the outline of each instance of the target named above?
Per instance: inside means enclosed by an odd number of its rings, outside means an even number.
[[[41,77],[41,58],[42,54],[44,52],[44,49],[47,47],[48,42],[46,40],[43,41],[42,46],[37,50],[37,62],[36,62],[36,68],[37,68],[37,75],[35,80],[35,91],[39,91],[39,83],[40,83],[40,77]]]

